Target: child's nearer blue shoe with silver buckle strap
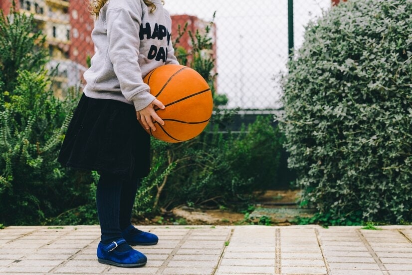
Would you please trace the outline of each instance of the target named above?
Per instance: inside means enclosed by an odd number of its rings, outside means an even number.
[[[126,243],[124,239],[119,239],[109,245],[100,242],[97,246],[97,260],[99,263],[124,268],[144,266],[147,263],[147,258],[137,250],[116,252],[116,248],[124,243]]]

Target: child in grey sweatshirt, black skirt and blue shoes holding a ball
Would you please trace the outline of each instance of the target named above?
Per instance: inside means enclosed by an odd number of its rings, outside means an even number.
[[[91,0],[96,15],[96,53],[84,73],[86,86],[60,150],[63,165],[100,174],[96,203],[101,228],[97,258],[119,267],[143,266],[133,245],[155,245],[158,237],[131,224],[139,179],[150,166],[154,107],[162,102],[143,82],[151,70],[179,64],[170,40],[171,18],[163,0]]]

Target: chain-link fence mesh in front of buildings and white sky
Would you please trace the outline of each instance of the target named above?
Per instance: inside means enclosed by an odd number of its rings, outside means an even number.
[[[69,87],[84,85],[82,74],[88,56],[94,53],[90,37],[93,17],[87,0],[17,0],[16,5],[22,12],[34,14],[38,28],[47,35],[49,66],[57,67],[58,71],[56,95],[64,96]],[[331,0],[166,0],[165,3],[175,30],[177,24],[188,20],[192,28],[204,28],[213,20],[214,30],[210,35],[216,60],[216,93],[227,96],[225,107],[252,112],[280,106],[278,80],[288,60],[291,30],[297,48],[302,43],[304,26],[330,6]],[[9,0],[2,0],[5,12],[9,7]]]

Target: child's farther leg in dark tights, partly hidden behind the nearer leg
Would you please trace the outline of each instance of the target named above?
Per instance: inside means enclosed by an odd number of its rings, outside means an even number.
[[[119,225],[121,230],[125,230],[131,225],[132,210],[135,204],[137,187],[140,180],[132,178],[125,180],[122,185],[120,195],[120,218]]]

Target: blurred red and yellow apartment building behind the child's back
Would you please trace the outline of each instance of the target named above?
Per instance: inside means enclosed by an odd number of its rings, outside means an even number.
[[[11,0],[0,0],[7,14]],[[83,83],[87,56],[94,53],[91,40],[93,17],[85,0],[16,0],[20,12],[31,13],[37,28],[46,35],[46,46],[51,57],[49,69],[57,67],[53,90],[64,96],[67,87]]]

